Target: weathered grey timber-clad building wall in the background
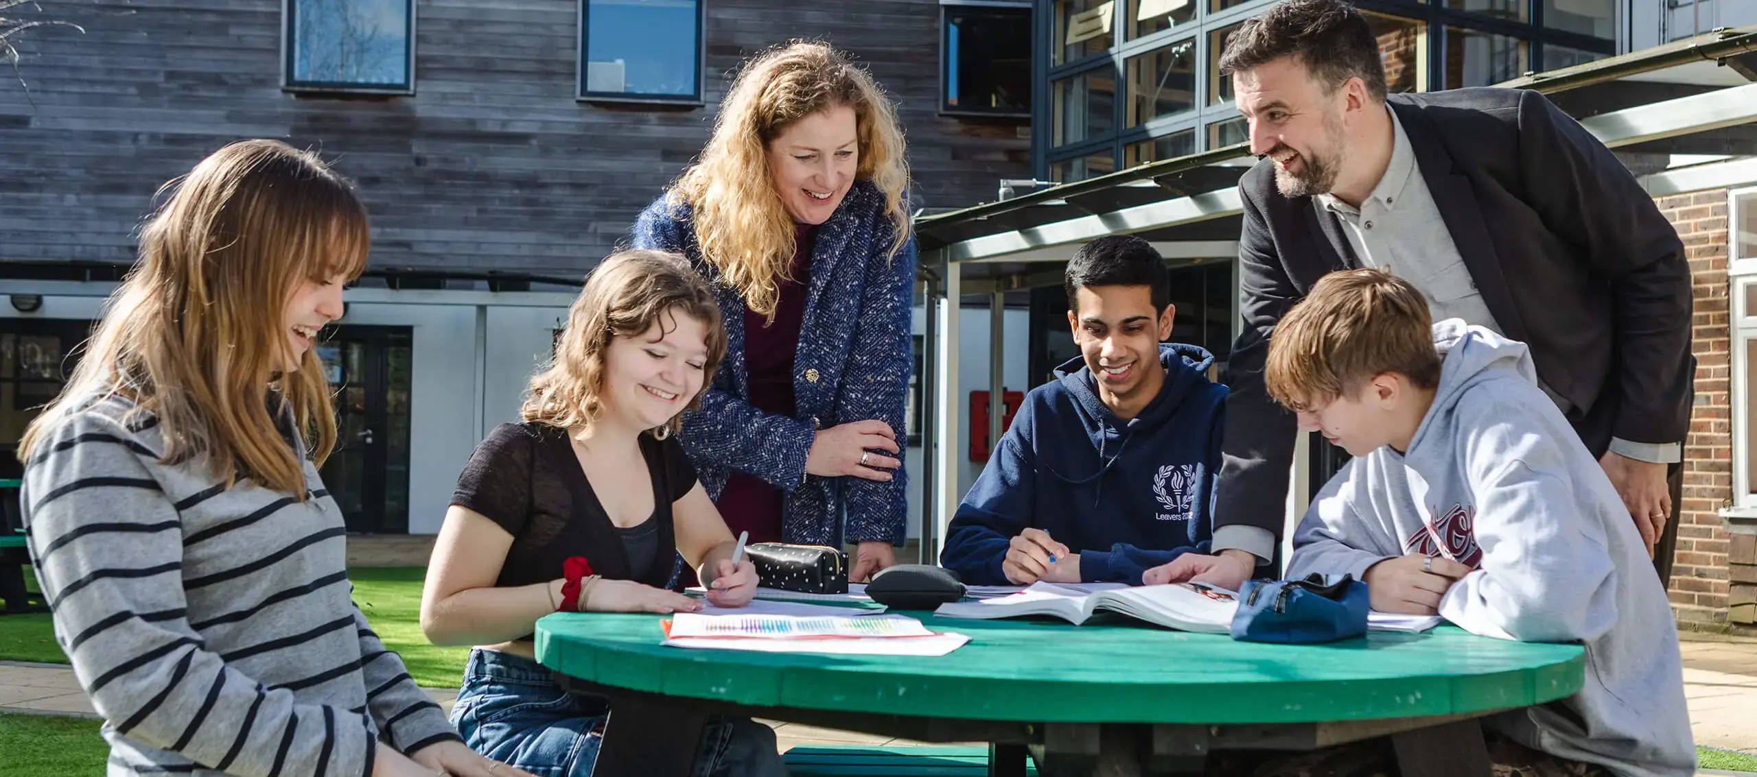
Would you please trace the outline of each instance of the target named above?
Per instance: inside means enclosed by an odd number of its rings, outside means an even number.
[[[130,261],[153,191],[241,137],[315,147],[372,212],[372,265],[578,275],[706,140],[738,61],[829,40],[900,102],[928,207],[1030,174],[1023,123],[938,116],[936,0],[706,0],[705,107],[575,100],[578,0],[416,0],[413,96],[281,88],[281,0],[42,4],[0,72],[0,261]],[[16,12],[16,11],[14,11]]]

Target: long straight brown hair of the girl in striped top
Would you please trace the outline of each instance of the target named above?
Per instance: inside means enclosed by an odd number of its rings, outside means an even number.
[[[67,388],[19,442],[91,400],[121,395],[158,419],[165,463],[202,461],[299,495],[299,456],[271,416],[271,384],[322,465],[336,416],[315,349],[286,365],[285,310],[306,279],[358,277],[371,244],[365,207],[316,154],[278,140],[239,140],[160,189],[141,253]],[[278,377],[279,375],[279,377]]]

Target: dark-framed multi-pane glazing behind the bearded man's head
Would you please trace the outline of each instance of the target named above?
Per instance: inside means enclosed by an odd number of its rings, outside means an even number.
[[[1040,19],[1037,44],[1037,56],[1049,58],[1047,79],[1038,75],[1035,82],[1047,100],[1033,119],[1033,135],[1042,139],[1037,175],[1068,182],[1112,167],[1158,161],[1189,146],[1189,153],[1198,153],[1247,140],[1247,123],[1232,105],[1232,79],[1219,75],[1218,60],[1239,23],[1272,4],[1038,4],[1052,18]],[[1385,58],[1390,91],[1488,86],[1530,70],[1548,72],[1613,56],[1615,25],[1622,16],[1618,4],[1358,0]],[[1045,32],[1047,40],[1042,40]],[[1151,39],[1142,40],[1147,46],[1135,46],[1147,35]],[[1110,61],[1100,63],[1100,54]],[[1186,63],[1186,58],[1195,61]],[[1186,81],[1189,86],[1184,86]],[[1107,161],[1112,154],[1117,165]]]

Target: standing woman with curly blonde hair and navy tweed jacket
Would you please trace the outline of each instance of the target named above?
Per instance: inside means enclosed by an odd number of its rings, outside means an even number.
[[[796,40],[745,63],[701,160],[634,225],[636,247],[713,282],[726,319],[726,368],[680,435],[726,523],[752,542],[856,542],[852,581],[894,563],[908,512],[907,184],[878,84]]]

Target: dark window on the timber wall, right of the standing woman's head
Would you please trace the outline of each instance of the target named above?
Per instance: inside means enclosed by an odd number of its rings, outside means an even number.
[[[945,5],[945,103],[959,114],[1031,114],[1031,7]]]

